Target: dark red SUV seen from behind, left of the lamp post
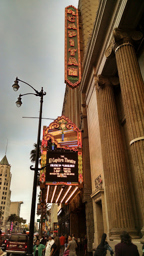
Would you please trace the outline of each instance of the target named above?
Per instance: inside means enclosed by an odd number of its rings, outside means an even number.
[[[6,245],[6,253],[26,254],[27,251],[27,234],[11,234]]]

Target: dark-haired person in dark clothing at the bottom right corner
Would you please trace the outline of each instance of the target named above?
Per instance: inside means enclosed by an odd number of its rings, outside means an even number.
[[[121,241],[115,245],[115,256],[139,256],[137,246],[131,242],[131,237],[127,231],[120,234]]]

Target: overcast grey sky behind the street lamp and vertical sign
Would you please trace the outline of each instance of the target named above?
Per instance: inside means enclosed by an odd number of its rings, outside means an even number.
[[[12,89],[16,76],[40,91],[43,96],[42,117],[61,115],[64,84],[64,8],[78,0],[1,0],[0,1],[0,160],[5,155],[11,165],[11,201],[23,201],[20,217],[30,219],[33,187],[32,164],[29,159],[37,141],[40,98],[18,95],[33,93],[19,82]],[[42,119],[48,126],[52,120]],[[33,166],[34,167],[34,166]],[[39,189],[37,189],[37,194]],[[35,215],[35,219],[38,218]]]

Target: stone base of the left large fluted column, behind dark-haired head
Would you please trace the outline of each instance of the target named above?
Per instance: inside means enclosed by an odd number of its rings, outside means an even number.
[[[123,230],[126,230],[132,239],[139,239],[138,231],[136,228],[112,228],[110,230],[109,240],[120,239],[120,234]]]

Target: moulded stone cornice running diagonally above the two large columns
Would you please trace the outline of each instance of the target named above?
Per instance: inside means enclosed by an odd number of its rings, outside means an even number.
[[[132,1],[133,4],[134,1]],[[79,89],[81,92],[86,92],[86,87],[91,75],[91,69],[95,65],[95,74],[109,74],[114,75],[116,72],[116,62],[114,60],[107,60],[105,57],[105,50],[112,39],[112,31],[115,27],[122,28],[128,26],[129,29],[134,29],[138,22],[138,15],[142,13],[143,3],[140,2],[140,10],[132,9],[130,0],[101,0],[97,9],[97,15],[91,38],[87,42],[86,51],[83,58],[83,73]],[[137,5],[139,6],[139,5]],[[126,11],[126,20],[125,20]],[[136,17],[131,22],[131,15],[136,12]],[[137,14],[138,11],[138,14]],[[108,16],[107,16],[108,13]],[[114,13],[114,14],[113,14]],[[128,16],[128,18],[127,18]],[[108,19],[109,18],[109,19]],[[126,22],[126,23],[125,23]],[[104,29],[105,28],[105,29]],[[108,32],[107,32],[108,31]],[[111,68],[109,70],[109,61]],[[107,73],[106,73],[107,72]],[[113,72],[113,73],[112,73]]]

